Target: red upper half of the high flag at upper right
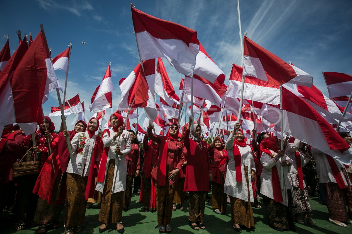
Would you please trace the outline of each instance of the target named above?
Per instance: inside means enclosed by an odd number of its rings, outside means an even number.
[[[269,84],[279,86],[297,77],[291,65],[254,43],[246,36],[243,39],[243,48],[244,56],[259,58]]]

